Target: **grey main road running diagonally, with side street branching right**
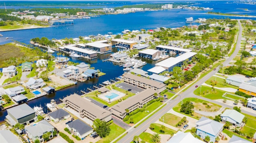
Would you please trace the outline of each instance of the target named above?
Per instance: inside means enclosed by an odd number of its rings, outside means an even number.
[[[241,43],[241,37],[242,37],[242,26],[241,26],[239,20],[238,20],[238,25],[239,25],[239,33],[238,33],[236,49],[235,49],[234,53],[230,57],[228,57],[226,59],[226,61],[223,63],[224,66],[226,66],[232,59],[234,59],[234,57],[237,55],[237,53],[238,53],[238,51],[240,49],[240,43]],[[207,74],[206,76],[201,78],[198,82],[196,82],[194,85],[201,85],[206,80],[208,80],[208,78],[213,76],[217,71],[218,70],[211,71],[209,74]],[[130,129],[128,131],[127,135],[124,136],[122,139],[120,139],[120,141],[118,141],[118,143],[130,143],[133,140],[134,135],[140,135],[140,133],[145,131],[149,127],[149,125],[151,123],[156,122],[160,117],[162,117],[166,112],[168,112],[170,109],[172,109],[176,104],[178,104],[184,98],[197,97],[197,98],[202,98],[202,99],[204,99],[206,101],[210,101],[210,102],[216,103],[216,101],[214,101],[214,100],[210,100],[208,98],[203,98],[203,97],[194,95],[193,92],[194,92],[195,89],[196,88],[194,86],[191,86],[190,88],[188,88],[188,90],[186,90],[185,92],[183,92],[182,94],[179,95],[180,98],[177,98],[178,100],[170,100],[169,102],[167,102],[166,106],[164,108],[162,108],[161,110],[159,110],[158,112],[156,112],[154,114],[154,116],[151,116],[150,118],[148,118],[146,121],[144,121],[138,127]],[[228,105],[220,103],[220,102],[217,102],[216,104],[219,104],[219,105],[221,105],[223,107],[231,108],[231,106],[228,106]],[[244,112],[246,114],[250,114],[250,115],[256,116],[256,114],[248,113],[246,111],[242,111],[242,112]]]

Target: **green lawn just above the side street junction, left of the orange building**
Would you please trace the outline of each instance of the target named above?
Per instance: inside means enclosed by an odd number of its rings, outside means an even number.
[[[194,91],[194,94],[200,95],[200,88],[201,87],[198,86],[198,88]],[[223,90],[218,90],[218,89],[211,88],[208,86],[202,86],[202,89],[201,89],[201,96],[203,96],[205,98],[212,99],[212,100],[225,99],[224,97],[222,97],[222,95],[224,93],[225,93],[225,91],[223,91]]]

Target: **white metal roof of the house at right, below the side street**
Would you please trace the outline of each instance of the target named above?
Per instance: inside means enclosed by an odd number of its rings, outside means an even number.
[[[242,123],[243,119],[244,119],[244,115],[237,112],[236,110],[234,109],[227,109],[223,112],[223,114],[221,114],[221,117],[229,117],[231,119],[233,119],[234,121],[238,122],[238,123]],[[224,120],[226,120],[224,118]]]

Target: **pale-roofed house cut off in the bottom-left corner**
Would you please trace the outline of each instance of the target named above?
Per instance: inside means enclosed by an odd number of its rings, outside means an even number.
[[[0,130],[1,143],[22,143],[10,130]]]

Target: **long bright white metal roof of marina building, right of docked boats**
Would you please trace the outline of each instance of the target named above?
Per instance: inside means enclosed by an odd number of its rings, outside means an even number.
[[[194,53],[194,52],[187,52],[187,53],[184,53],[176,58],[170,57],[168,59],[165,59],[164,61],[156,63],[155,65],[170,68],[170,67],[176,65],[177,63],[180,63],[190,57],[193,57],[196,54],[197,53]]]

